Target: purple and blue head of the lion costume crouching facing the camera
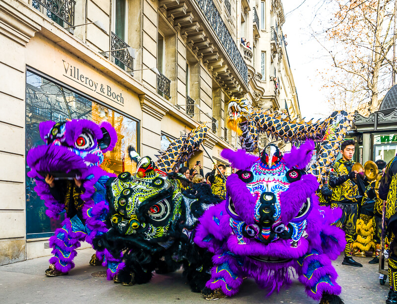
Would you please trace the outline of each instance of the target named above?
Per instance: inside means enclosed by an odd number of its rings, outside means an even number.
[[[226,182],[225,225],[230,226],[228,247],[233,253],[276,269],[307,252],[306,228],[318,204],[318,182],[305,171],[313,149],[313,141],[307,141],[284,156],[275,145],[266,146],[260,158],[243,150],[222,151],[241,169]]]

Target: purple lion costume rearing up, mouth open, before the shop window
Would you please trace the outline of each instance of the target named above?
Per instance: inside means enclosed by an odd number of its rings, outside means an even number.
[[[36,180],[35,191],[45,201],[47,216],[59,219],[66,212],[62,228],[50,238],[54,256],[46,275],[58,276],[74,267],[73,258],[81,241],[92,244],[96,236],[108,231],[105,183],[114,175],[99,165],[104,153],[115,147],[117,134],[109,122],[97,125],[88,120],[41,122],[39,128],[46,145],[29,151],[28,176]],[[45,181],[46,176],[54,177],[52,186]],[[108,279],[124,265],[106,249],[97,251],[90,264],[107,266]]]

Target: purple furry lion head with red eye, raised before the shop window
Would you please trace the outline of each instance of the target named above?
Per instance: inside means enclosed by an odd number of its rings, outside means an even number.
[[[100,125],[88,120],[41,122],[40,137],[46,143],[31,149],[26,162],[29,176],[55,179],[84,179],[88,169],[99,166],[104,153],[117,142],[116,130],[109,122]]]

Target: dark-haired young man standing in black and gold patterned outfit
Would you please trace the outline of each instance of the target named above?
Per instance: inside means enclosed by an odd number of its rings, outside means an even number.
[[[357,184],[353,181],[358,173],[353,168],[354,145],[352,139],[342,142],[340,147],[342,158],[332,164],[328,184],[332,190],[331,205],[337,204],[342,209],[342,216],[336,222],[336,226],[343,229],[346,235],[345,257],[342,264],[362,267],[363,265],[352,258],[352,244],[357,237],[358,203],[362,199]]]

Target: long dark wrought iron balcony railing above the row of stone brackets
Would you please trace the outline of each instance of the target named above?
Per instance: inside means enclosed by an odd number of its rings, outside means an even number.
[[[196,0],[241,77],[248,82],[248,67],[212,0]]]

